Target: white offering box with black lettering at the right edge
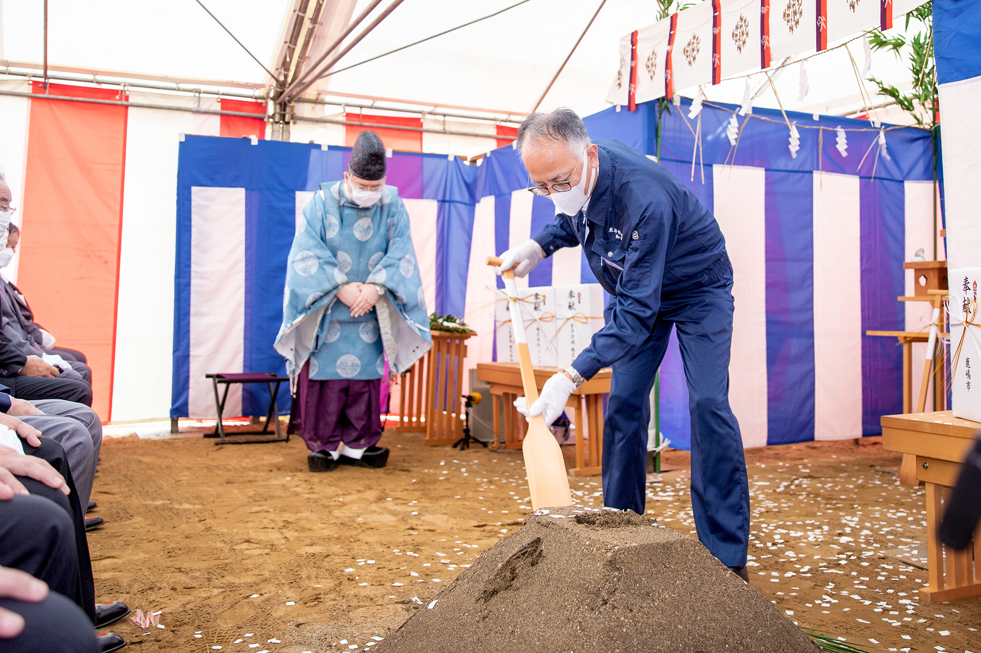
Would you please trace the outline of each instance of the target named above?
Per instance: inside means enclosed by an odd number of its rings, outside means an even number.
[[[948,278],[951,409],[955,417],[981,422],[981,326],[977,326],[981,325],[981,307],[978,304],[981,268],[952,270]]]

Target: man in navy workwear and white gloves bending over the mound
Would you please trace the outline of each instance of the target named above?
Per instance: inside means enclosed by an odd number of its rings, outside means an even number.
[[[585,379],[611,366],[604,503],[643,515],[648,396],[675,326],[688,378],[698,539],[747,579],[749,483],[728,397],[733,274],[715,218],[643,153],[618,140],[591,143],[570,109],[532,114],[517,144],[529,190],[560,213],[535,238],[504,252],[501,269],[525,276],[555,250],[582,245],[611,295],[606,326],[571,367],[545,382],[527,412],[550,425]],[[516,405],[525,412],[524,398]]]

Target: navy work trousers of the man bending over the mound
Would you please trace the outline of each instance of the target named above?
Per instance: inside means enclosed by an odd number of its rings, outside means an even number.
[[[644,514],[648,397],[675,326],[692,415],[692,508],[698,540],[722,564],[740,567],[746,565],[749,546],[749,482],[739,423],[729,407],[732,283],[726,275],[662,295],[650,336],[613,364],[603,428],[603,501]]]

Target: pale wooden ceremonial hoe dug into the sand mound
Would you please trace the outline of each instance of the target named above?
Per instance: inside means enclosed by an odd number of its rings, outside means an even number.
[[[499,258],[488,257],[489,266],[500,267],[501,263]],[[528,351],[528,339],[525,337],[525,321],[521,317],[521,308],[516,299],[518,292],[514,284],[514,272],[504,270],[500,276],[504,279],[509,297],[507,306],[511,313],[514,341],[518,343],[518,361],[521,365],[521,382],[525,386],[525,401],[531,408],[539,398],[539,388],[535,384],[532,355]],[[525,454],[525,471],[528,472],[532,508],[538,510],[571,505],[572,495],[569,493],[569,477],[565,472],[562,449],[541,415],[528,420],[528,432],[525,433],[521,449]]]

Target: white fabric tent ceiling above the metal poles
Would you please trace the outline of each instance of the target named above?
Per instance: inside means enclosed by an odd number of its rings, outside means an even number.
[[[259,60],[275,68],[292,0],[202,1]],[[362,61],[515,1],[405,0],[340,65]],[[349,3],[328,0],[329,9]],[[368,0],[357,0],[354,14],[367,4]],[[373,16],[387,4],[382,3]],[[3,1],[0,60],[41,61],[42,6],[40,1]],[[527,112],[597,6],[598,0],[530,0],[487,21],[334,75],[319,88],[420,104]],[[570,106],[582,115],[606,108],[603,98],[619,61],[617,41],[632,29],[653,23],[654,7],[650,0],[608,0],[542,108]],[[52,65],[252,83],[267,79],[259,65],[194,0],[153,4],[49,0],[48,11],[48,60]],[[860,42],[852,46],[852,53],[861,66]],[[875,55],[871,72],[908,87],[904,65],[890,54]],[[785,108],[822,113],[860,108],[857,82],[843,50],[810,60],[807,75],[810,91],[803,100],[798,99],[797,67],[777,80]],[[706,95],[711,100],[738,102],[743,84],[742,80],[724,82],[706,89]],[[777,101],[767,89],[756,104],[775,107]]]

